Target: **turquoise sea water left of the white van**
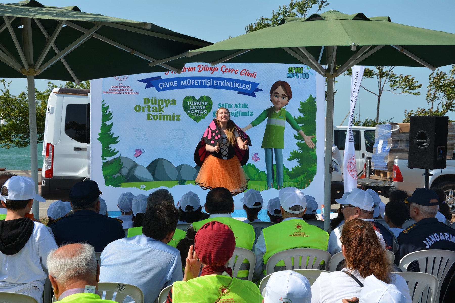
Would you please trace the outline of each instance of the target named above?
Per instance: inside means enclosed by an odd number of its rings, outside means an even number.
[[[40,143],[38,144],[38,168],[43,167],[42,150],[43,144]],[[0,148],[0,168],[30,170],[30,146]]]

